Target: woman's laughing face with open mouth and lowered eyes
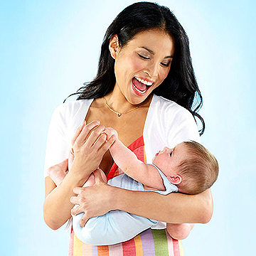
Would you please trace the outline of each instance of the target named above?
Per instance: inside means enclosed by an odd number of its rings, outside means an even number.
[[[174,39],[165,31],[152,29],[137,33],[127,45],[115,50],[114,90],[118,89],[129,103],[137,105],[168,75]]]

